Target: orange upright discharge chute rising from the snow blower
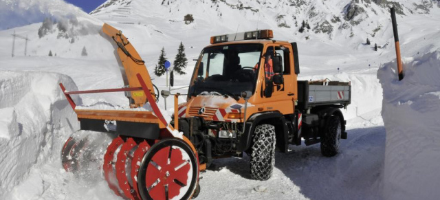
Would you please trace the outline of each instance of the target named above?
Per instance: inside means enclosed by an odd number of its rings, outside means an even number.
[[[154,94],[153,83],[144,65],[145,62],[140,59],[140,55],[136,52],[136,49],[131,45],[128,39],[120,30],[115,29],[107,23],[102,25],[102,33],[105,35],[104,37],[115,46],[115,54],[118,55],[116,58],[118,58],[120,65],[122,65],[120,66],[120,71],[125,87],[141,87],[137,79],[137,74],[140,74],[146,86],[151,89],[151,93]],[[126,96],[130,98],[130,107],[142,107],[147,100],[143,91],[127,91]]]

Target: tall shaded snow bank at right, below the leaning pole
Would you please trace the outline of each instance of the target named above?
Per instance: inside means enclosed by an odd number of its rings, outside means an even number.
[[[440,49],[377,72],[384,89],[384,199],[440,197]]]

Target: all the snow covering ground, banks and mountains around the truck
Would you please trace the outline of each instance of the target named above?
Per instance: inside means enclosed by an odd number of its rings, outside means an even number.
[[[18,7],[10,6],[11,2],[19,3]],[[250,179],[247,155],[215,159],[214,166],[200,175],[203,179],[197,199],[437,199],[439,196],[434,188],[439,186],[439,174],[434,169],[439,168],[440,155],[440,9],[437,5],[427,14],[415,10],[412,3],[420,4],[418,0],[399,1],[406,14],[397,16],[406,78],[398,82],[395,63],[389,63],[395,60],[391,20],[388,9],[379,5],[360,4],[366,10],[355,18],[362,19],[360,24],[343,28],[343,8],[349,0],[307,1],[297,6],[284,5],[290,1],[170,0],[170,5],[160,5],[162,1],[133,0],[124,7],[122,3],[127,2],[113,1],[114,4],[91,16],[61,0],[0,2],[1,14],[24,13],[22,19],[41,17],[40,14],[55,19],[73,15],[90,29],[87,34],[77,36],[74,43],[57,38],[58,30],[39,38],[37,31],[41,23],[27,25],[29,22],[13,21],[10,15],[0,14],[1,20],[15,24],[11,26],[14,29],[0,31],[0,41],[5,44],[0,46],[0,199],[120,199],[102,178],[83,180],[65,173],[59,155],[67,137],[79,127],[58,83],[63,82],[69,91],[124,87],[113,46],[97,31],[104,22],[129,37],[146,61],[159,90],[167,88],[164,76],[153,75],[162,47],[170,60],[177,53],[180,41],[186,47],[187,74],[175,76],[173,89],[177,89],[188,85],[195,65],[192,59],[199,57],[210,36],[255,30],[257,25],[259,29],[273,29],[276,39],[298,42],[299,80],[351,81],[352,102],[347,111],[342,111],[349,138],[342,140],[340,154],[327,158],[320,155],[319,145],[289,146],[290,153],[276,153],[274,175],[268,181]],[[259,12],[237,9],[234,6],[239,2]],[[118,8],[129,8],[129,14],[120,14]],[[27,10],[34,10],[37,15]],[[312,12],[317,15],[311,17]],[[195,22],[185,25],[182,19],[188,13],[193,14]],[[279,14],[285,14],[283,20],[292,27],[277,27]],[[309,19],[312,29],[298,33],[293,16],[298,25]],[[314,33],[316,23],[329,21],[333,16],[340,17],[341,22],[334,24],[331,34]],[[381,28],[372,36],[377,27]],[[23,56],[24,41],[17,38],[16,56],[11,57],[14,31],[30,38],[28,56]],[[371,45],[362,44],[367,37],[373,45],[377,43],[382,48],[374,52]],[[83,47],[89,56],[80,56]],[[57,56],[48,57],[50,50]],[[185,94],[187,89],[174,92]],[[129,104],[122,92],[72,97],[78,109],[126,109]],[[180,103],[185,100],[186,96],[179,96]],[[166,104],[173,105],[173,98],[167,98]],[[174,111],[169,106],[164,109],[162,97],[159,107],[165,116]]]

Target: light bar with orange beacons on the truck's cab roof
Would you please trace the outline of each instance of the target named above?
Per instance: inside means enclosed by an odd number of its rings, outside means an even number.
[[[252,32],[239,32],[236,34],[226,34],[221,36],[212,36],[210,43],[224,43],[230,41],[256,40],[256,39],[270,39],[274,38],[272,30],[256,30]]]

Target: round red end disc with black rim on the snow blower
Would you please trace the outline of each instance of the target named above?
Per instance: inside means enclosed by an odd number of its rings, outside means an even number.
[[[186,142],[167,138],[147,151],[137,177],[142,199],[189,199],[197,186],[199,163]]]

